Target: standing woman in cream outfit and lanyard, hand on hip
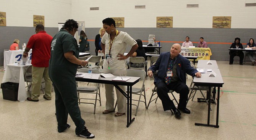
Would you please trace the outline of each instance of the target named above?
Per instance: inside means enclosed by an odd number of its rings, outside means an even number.
[[[103,73],[111,73],[115,76],[126,76],[125,60],[130,57],[138,48],[137,42],[131,38],[126,32],[118,31],[115,28],[115,20],[106,18],[102,21],[103,28],[107,32],[101,39],[101,48],[105,54],[103,63]],[[131,50],[127,55],[123,55],[126,46],[130,46]],[[119,86],[123,91],[125,86]],[[106,91],[106,110],[103,114],[114,112],[114,85],[105,84]],[[126,98],[115,88],[117,93],[117,113],[115,116],[122,116],[126,113]]]

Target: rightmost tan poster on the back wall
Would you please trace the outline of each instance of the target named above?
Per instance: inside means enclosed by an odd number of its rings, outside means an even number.
[[[231,16],[213,16],[212,28],[231,28]]]

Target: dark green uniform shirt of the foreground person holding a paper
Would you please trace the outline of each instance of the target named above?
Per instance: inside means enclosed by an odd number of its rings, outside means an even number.
[[[49,61],[49,69],[52,72],[76,74],[78,65],[71,63],[64,56],[64,53],[68,51],[74,51],[73,55],[76,58],[79,57],[79,48],[76,39],[66,30],[61,29],[52,39],[51,58]]]

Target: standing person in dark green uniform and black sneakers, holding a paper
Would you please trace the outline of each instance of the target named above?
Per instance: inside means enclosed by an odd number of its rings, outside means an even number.
[[[64,132],[70,127],[70,124],[67,124],[69,114],[76,125],[76,135],[94,138],[86,128],[78,106],[76,71],[78,65],[85,66],[88,62],[78,59],[79,48],[74,38],[76,31],[78,23],[68,19],[52,39],[49,75],[55,91],[58,132]]]

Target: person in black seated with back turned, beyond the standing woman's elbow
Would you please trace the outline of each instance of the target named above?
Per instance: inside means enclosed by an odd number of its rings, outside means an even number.
[[[145,54],[145,50],[144,48],[142,47],[142,41],[140,39],[137,39],[136,40],[137,44],[138,44],[138,49],[131,55],[131,57],[144,57],[145,58],[145,65],[147,65],[147,56]],[[128,65],[128,68],[129,68],[129,63],[127,63]],[[144,63],[131,63],[131,67],[134,67],[134,68],[142,68],[144,67]]]

